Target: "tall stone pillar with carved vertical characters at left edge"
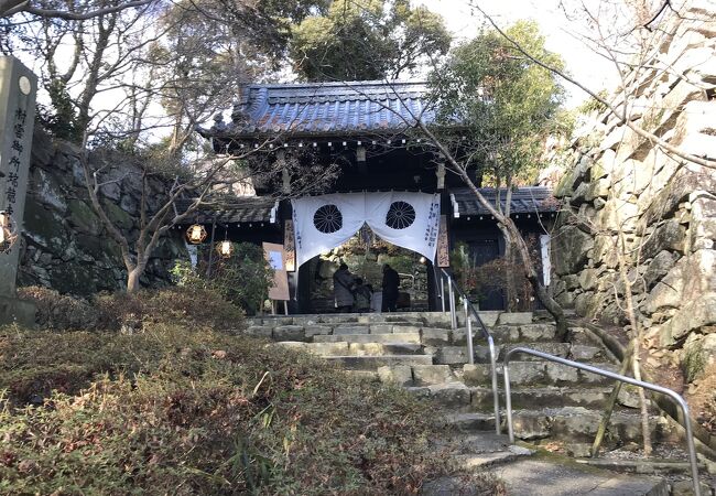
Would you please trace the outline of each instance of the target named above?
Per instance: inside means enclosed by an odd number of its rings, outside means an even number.
[[[0,212],[22,231],[35,119],[37,77],[19,60],[0,57]],[[0,324],[34,325],[35,306],[15,291],[20,239],[0,252]]]

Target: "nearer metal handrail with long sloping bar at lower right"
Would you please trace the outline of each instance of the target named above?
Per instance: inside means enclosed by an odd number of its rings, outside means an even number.
[[[676,392],[672,391],[671,389],[658,386],[655,384],[651,382],[644,382],[643,380],[637,380],[632,379],[631,377],[622,376],[620,374],[615,374],[609,370],[605,370],[601,368],[593,367],[590,365],[586,364],[581,364],[578,362],[573,362],[573,360],[567,360],[566,358],[561,358],[558,356],[550,355],[547,353],[542,353],[538,352],[536,349],[532,348],[525,348],[522,346],[514,347],[510,351],[508,351],[505,354],[505,400],[506,400],[506,409],[507,409],[507,430],[510,435],[510,442],[514,442],[514,431],[512,430],[512,398],[510,393],[510,370],[509,370],[509,364],[510,364],[510,357],[512,355],[516,355],[518,353],[524,353],[527,355],[532,355],[536,356],[540,358],[544,358],[545,360],[549,362],[555,362],[557,364],[566,365],[568,367],[574,367],[579,370],[586,370],[592,374],[597,374],[599,376],[608,377],[610,379],[615,380],[620,380],[622,382],[630,384],[632,386],[638,386],[640,388],[644,389],[651,389],[652,391],[661,392],[662,395],[666,395],[671,397],[676,405],[681,407],[681,410],[684,414],[684,429],[686,430],[686,443],[688,445],[688,459],[691,461],[691,475],[692,475],[692,481],[694,485],[694,495],[695,496],[701,496],[701,484],[698,482],[698,464],[696,460],[696,446],[694,445],[694,436],[691,430],[691,420],[688,417],[688,405],[686,405],[686,401],[684,398],[682,398],[680,395]]]

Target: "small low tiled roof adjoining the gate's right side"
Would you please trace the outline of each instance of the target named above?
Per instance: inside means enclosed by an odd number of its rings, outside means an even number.
[[[492,187],[481,187],[480,193],[492,205],[495,205],[496,190]],[[459,216],[465,215],[490,215],[487,208],[480,205],[475,194],[468,188],[451,190],[454,202],[457,204]],[[507,190],[500,190],[500,201],[502,208],[506,205]],[[523,186],[512,190],[512,200],[510,202],[510,214],[534,214],[552,213],[560,209],[560,202],[552,195],[552,190],[544,186]]]

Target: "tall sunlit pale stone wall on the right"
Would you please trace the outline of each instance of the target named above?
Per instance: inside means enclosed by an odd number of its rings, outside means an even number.
[[[716,21],[703,21],[716,7],[701,3],[687,18],[702,21],[672,24],[655,55],[672,69],[634,82],[631,119],[716,160]],[[670,157],[606,111],[593,118],[556,188],[565,202],[553,236],[557,301],[625,325],[621,252],[650,344],[680,359],[698,344],[716,357],[716,170]]]

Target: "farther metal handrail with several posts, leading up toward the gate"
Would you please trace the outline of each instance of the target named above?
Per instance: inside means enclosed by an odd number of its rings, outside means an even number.
[[[465,325],[466,325],[466,333],[467,333],[466,336],[467,337],[467,360],[470,365],[475,363],[475,354],[473,352],[473,321],[470,320],[470,314],[473,314],[475,321],[479,324],[482,336],[485,336],[485,339],[487,339],[487,346],[490,353],[490,375],[492,376],[492,405],[495,408],[495,432],[499,434],[500,433],[500,398],[497,390],[497,354],[495,352],[495,339],[492,339],[492,335],[487,330],[487,326],[482,322],[482,319],[480,319],[480,315],[477,313],[477,310],[475,310],[475,306],[473,306],[473,303],[470,303],[467,295],[459,289],[459,287],[452,278],[452,276],[447,273],[445,269],[441,269],[441,272],[443,273],[443,277],[441,278],[441,290],[443,291],[443,294],[441,295],[441,300],[443,301],[443,312],[445,312],[445,287],[443,284],[443,280],[447,279],[447,289],[449,292],[451,324],[453,326],[453,330],[457,328],[457,312],[455,309],[454,291],[457,291],[457,293],[463,300],[463,306],[465,309]]]

